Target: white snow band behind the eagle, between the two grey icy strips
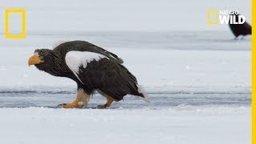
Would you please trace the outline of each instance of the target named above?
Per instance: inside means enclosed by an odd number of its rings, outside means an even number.
[[[229,42],[228,45],[235,46],[236,43]],[[225,49],[227,44],[219,42],[218,45]],[[38,47],[41,46],[0,48],[0,54],[5,56],[0,57],[0,89],[42,90],[47,87],[47,90],[75,90],[74,81],[27,66],[28,58]],[[247,50],[106,49],[124,60],[124,65],[146,91],[250,92],[251,54]],[[190,70],[186,66],[190,66]]]

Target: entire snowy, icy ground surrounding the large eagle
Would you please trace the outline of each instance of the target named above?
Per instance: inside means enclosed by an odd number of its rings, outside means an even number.
[[[0,139],[3,143],[250,143],[250,36],[207,25],[209,9],[239,10],[250,1],[2,1],[26,9],[26,39],[0,26]],[[10,16],[10,33],[21,18]],[[86,40],[124,59],[154,106],[125,97],[108,110],[95,94],[88,109],[72,102],[76,84],[29,67],[38,48]]]

